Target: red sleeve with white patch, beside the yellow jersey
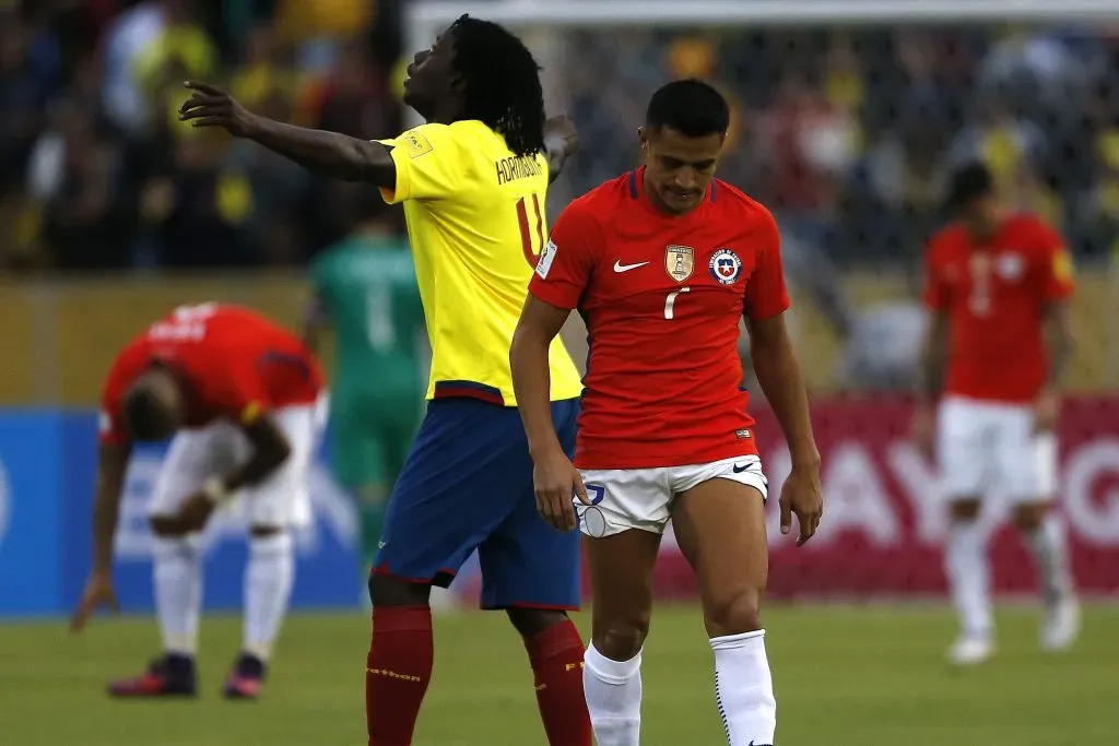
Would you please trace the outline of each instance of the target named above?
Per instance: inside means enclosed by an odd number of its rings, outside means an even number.
[[[567,206],[540,252],[528,292],[545,303],[574,309],[591,282],[599,227],[579,202]]]

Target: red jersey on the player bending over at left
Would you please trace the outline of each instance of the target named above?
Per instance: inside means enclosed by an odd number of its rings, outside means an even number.
[[[215,419],[250,424],[270,409],[313,404],[322,374],[302,341],[236,305],[182,306],[133,339],[116,357],[101,397],[101,441],[128,440],[121,406],[132,383],[154,363],[186,391],[187,427]]]

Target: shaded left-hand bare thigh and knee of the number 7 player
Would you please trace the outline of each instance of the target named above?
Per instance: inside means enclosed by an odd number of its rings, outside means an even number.
[[[628,661],[645,644],[652,616],[652,570],[660,537],[631,528],[606,537],[583,538],[593,594],[591,638],[606,658]]]

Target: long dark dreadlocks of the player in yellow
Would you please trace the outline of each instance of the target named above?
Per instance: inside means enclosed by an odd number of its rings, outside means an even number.
[[[479,120],[517,155],[544,150],[540,66],[525,43],[491,21],[462,16],[451,26],[462,76],[462,117]]]

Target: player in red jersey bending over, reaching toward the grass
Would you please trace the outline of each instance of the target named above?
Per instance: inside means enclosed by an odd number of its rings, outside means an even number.
[[[239,494],[250,523],[244,644],[225,684],[255,698],[294,579],[289,529],[310,521],[308,469],[322,390],[298,337],[234,305],[184,306],[117,356],[101,402],[93,514],[93,572],[74,613],[79,631],[115,606],[113,537],[132,444],[173,436],[149,503],[156,612],[163,650],[115,697],[195,696],[201,606],[198,535],[216,507]]]

